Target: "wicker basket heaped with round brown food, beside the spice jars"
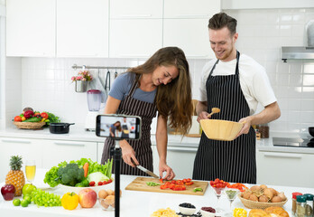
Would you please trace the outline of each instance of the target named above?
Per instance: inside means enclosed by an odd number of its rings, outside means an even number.
[[[266,209],[271,206],[282,207],[288,201],[284,193],[268,188],[265,184],[254,185],[237,196],[249,209]]]

